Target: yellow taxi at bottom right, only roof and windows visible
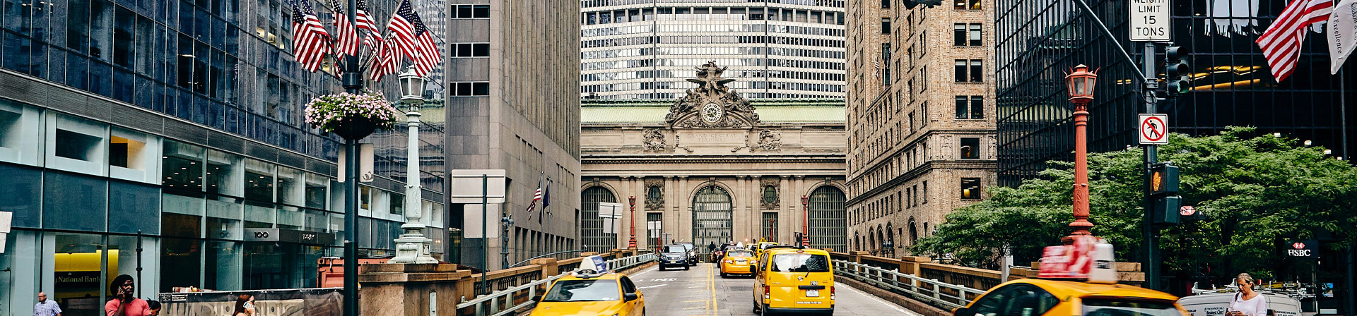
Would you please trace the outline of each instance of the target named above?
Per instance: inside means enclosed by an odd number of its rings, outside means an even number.
[[[1168,293],[1129,285],[1058,279],[1008,281],[954,316],[1190,316]]]

